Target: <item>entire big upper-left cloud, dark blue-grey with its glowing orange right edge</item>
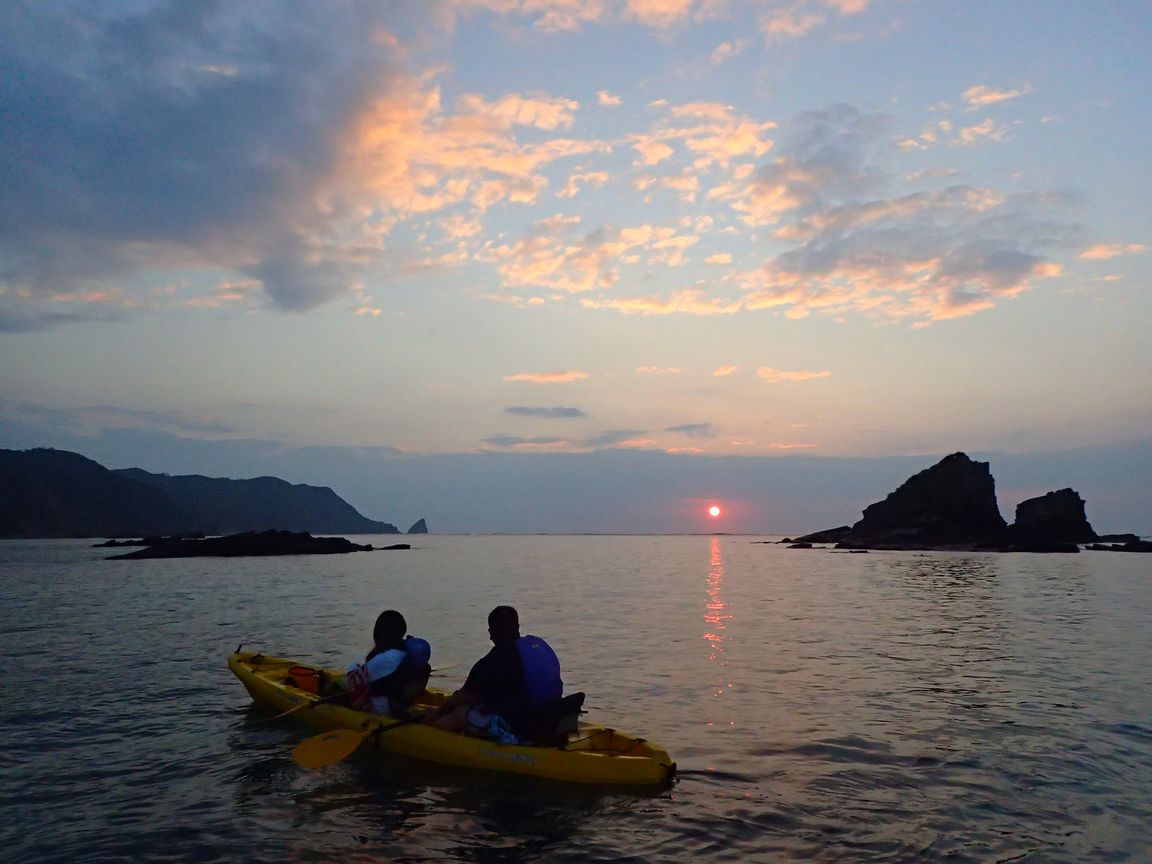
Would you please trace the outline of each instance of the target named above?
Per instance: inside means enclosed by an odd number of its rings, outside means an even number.
[[[165,267],[253,280],[283,310],[354,298],[365,274],[402,264],[384,242],[399,222],[532,203],[545,166],[607,149],[550,137],[575,122],[574,99],[464,93],[445,108],[427,77],[404,73],[388,32],[418,32],[434,18],[422,6],[142,0],[0,14],[8,329],[142,308],[141,279]],[[442,223],[456,238],[473,226]]]

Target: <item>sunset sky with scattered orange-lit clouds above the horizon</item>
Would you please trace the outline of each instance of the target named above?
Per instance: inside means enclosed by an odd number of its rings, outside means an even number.
[[[0,447],[453,531],[816,530],[964,450],[1009,521],[1074,485],[1152,532],[1150,35],[1136,0],[6,2]]]

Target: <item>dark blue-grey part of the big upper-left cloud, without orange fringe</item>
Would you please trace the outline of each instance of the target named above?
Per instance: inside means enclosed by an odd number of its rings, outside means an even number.
[[[7,7],[0,282],[33,302],[211,265],[262,279],[286,309],[341,294],[354,267],[318,260],[333,214],[317,194],[333,132],[396,74],[373,39],[391,17],[367,3]]]

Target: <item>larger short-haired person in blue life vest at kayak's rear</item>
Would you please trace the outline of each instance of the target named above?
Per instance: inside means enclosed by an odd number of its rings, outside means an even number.
[[[424,722],[509,743],[532,738],[563,692],[560,660],[539,636],[520,635],[520,615],[511,606],[488,613],[488,638],[492,650]]]

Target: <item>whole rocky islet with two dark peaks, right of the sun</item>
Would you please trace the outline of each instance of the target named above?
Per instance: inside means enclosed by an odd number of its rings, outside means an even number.
[[[1122,545],[1096,541],[1119,539]],[[1071,488],[1022,501],[1013,524],[996,503],[987,462],[953,453],[914,475],[882,501],[864,508],[854,525],[817,531],[781,543],[799,548],[835,544],[838,550],[961,550],[994,552],[1149,552],[1152,544],[1131,535],[1101,538],[1087,521],[1084,500]]]

